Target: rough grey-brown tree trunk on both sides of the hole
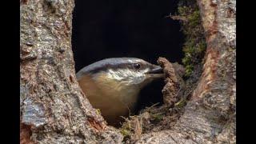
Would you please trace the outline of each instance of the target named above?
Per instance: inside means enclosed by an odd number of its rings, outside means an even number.
[[[198,86],[171,130],[142,134],[137,143],[236,142],[236,2],[198,5],[207,43]],[[76,81],[73,8],[73,0],[21,1],[21,143],[122,143]]]

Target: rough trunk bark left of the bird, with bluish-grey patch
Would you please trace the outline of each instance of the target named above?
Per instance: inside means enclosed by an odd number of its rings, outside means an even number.
[[[75,78],[73,0],[22,1],[21,142],[122,142],[90,106]]]

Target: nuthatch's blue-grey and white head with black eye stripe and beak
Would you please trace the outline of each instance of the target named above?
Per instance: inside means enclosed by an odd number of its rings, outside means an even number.
[[[106,58],[78,71],[78,80],[84,75],[102,78],[120,84],[123,88],[135,86],[141,89],[154,79],[162,78],[162,68],[140,58]]]

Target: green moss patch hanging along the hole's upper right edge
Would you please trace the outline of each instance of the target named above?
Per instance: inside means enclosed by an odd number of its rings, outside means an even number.
[[[182,24],[182,32],[185,35],[182,47],[185,56],[182,58],[182,63],[186,69],[185,76],[189,77],[194,66],[202,62],[206,51],[206,39],[197,2],[181,0],[178,5],[178,15],[170,18],[178,19]]]

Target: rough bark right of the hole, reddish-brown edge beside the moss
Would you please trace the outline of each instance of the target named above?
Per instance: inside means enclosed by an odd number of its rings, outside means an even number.
[[[198,0],[206,31],[203,73],[172,130],[142,135],[137,143],[235,143],[234,0]]]

